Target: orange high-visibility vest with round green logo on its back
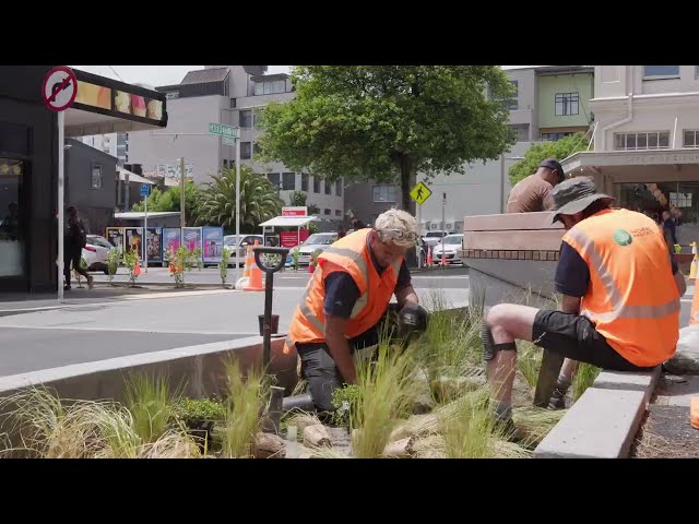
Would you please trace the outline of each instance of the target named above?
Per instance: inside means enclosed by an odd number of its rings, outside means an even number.
[[[651,367],[675,354],[679,293],[662,230],[648,216],[604,210],[565,236],[590,269],[580,314],[629,362]]]

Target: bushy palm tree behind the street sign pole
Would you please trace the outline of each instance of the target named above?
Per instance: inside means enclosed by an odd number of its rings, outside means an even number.
[[[236,169],[224,168],[212,175],[209,187],[201,191],[199,224],[236,226]],[[252,233],[262,222],[282,213],[284,202],[279,188],[256,175],[249,166],[240,166],[240,230]]]

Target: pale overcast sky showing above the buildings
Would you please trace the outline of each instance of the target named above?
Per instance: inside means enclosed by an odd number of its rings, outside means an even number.
[[[129,84],[152,86],[179,84],[189,71],[203,66],[72,66],[82,71],[122,80]],[[291,66],[270,66],[268,73],[288,73]],[[531,68],[532,66],[502,66],[505,69]]]

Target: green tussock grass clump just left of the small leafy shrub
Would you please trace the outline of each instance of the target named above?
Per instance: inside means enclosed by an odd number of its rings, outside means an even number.
[[[167,431],[167,425],[173,417],[167,377],[146,373],[129,377],[125,400],[126,407],[133,417],[133,428],[143,443],[155,442]]]

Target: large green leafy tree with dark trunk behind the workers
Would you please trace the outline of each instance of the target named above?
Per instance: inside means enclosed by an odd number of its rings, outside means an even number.
[[[299,66],[292,82],[296,98],[262,111],[262,159],[329,180],[400,180],[413,213],[417,171],[464,172],[513,143],[513,87],[496,66]]]

